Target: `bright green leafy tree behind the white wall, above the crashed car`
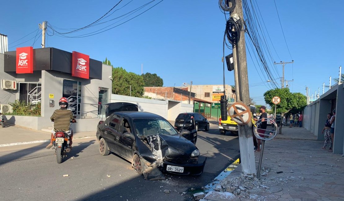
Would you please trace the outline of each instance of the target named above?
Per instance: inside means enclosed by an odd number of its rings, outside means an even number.
[[[122,67],[112,68],[113,94],[142,97],[144,93],[143,86],[142,76],[133,72],[127,72]]]

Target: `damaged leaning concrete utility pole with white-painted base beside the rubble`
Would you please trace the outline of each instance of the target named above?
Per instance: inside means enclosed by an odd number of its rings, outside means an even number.
[[[235,9],[230,14],[237,14],[244,22],[243,3],[241,0],[236,1]],[[246,45],[245,45],[245,26],[241,26],[240,40],[233,49],[233,63],[234,63],[234,79],[235,79],[235,93],[236,101],[242,101],[245,105],[250,104],[248,75],[247,75],[247,60],[246,60]],[[256,175],[256,164],[253,146],[253,132],[252,124],[248,123],[245,126],[238,125],[239,130],[239,146],[240,159],[243,173]]]

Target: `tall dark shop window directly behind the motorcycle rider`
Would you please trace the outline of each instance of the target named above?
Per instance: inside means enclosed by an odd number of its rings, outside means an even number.
[[[81,108],[81,82],[63,80],[62,96],[68,99],[68,109],[74,115],[79,115]]]

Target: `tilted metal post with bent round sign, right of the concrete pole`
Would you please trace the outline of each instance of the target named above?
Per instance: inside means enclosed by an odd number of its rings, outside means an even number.
[[[277,135],[277,124],[275,123],[275,121],[272,121],[272,119],[266,119],[265,121],[267,121],[267,120],[270,120],[270,122],[272,122],[272,129],[271,130],[259,129],[260,131],[264,130],[264,133],[258,133],[258,126],[263,122],[262,119],[259,119],[256,122],[255,127],[253,129],[253,133],[254,133],[254,135],[256,135],[256,138],[261,140],[260,158],[259,158],[258,173],[257,173],[258,179],[260,177],[260,169],[261,169],[261,162],[263,159],[265,141],[272,140]]]

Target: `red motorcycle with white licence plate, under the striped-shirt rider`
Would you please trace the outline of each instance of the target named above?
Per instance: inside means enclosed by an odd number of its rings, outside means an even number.
[[[76,121],[71,121],[72,123],[76,123]],[[55,152],[56,152],[56,161],[57,163],[62,163],[63,157],[66,156],[66,153],[70,152],[71,149],[69,148],[69,137],[73,134],[73,130],[69,131],[56,131],[55,132],[55,139],[53,141]]]

